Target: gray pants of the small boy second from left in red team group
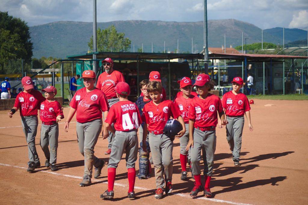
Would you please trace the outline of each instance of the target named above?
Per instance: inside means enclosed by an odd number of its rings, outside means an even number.
[[[45,154],[46,159],[49,160],[50,164],[57,163],[58,137],[59,137],[58,123],[55,123],[53,125],[42,124],[40,145]],[[48,145],[50,145],[50,151],[48,149]]]

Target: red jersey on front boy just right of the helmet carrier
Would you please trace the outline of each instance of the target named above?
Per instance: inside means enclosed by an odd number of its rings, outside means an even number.
[[[195,120],[195,127],[216,127],[217,111],[223,111],[221,100],[216,95],[209,93],[204,100],[199,97],[193,98],[189,105],[188,118]]]

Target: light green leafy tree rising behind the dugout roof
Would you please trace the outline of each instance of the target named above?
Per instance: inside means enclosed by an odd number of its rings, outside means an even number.
[[[124,37],[124,33],[118,33],[114,25],[109,26],[107,29],[96,31],[97,51],[120,52],[128,51],[131,48],[131,40]],[[93,36],[88,42],[90,50],[93,50]]]

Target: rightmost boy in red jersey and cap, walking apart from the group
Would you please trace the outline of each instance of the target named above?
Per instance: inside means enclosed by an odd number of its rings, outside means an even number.
[[[242,133],[244,127],[244,114],[248,120],[248,128],[253,131],[250,120],[250,105],[245,94],[241,93],[243,79],[241,77],[233,78],[232,91],[225,93],[221,99],[222,107],[227,116],[227,140],[232,152],[234,166],[241,166],[240,152],[242,145]]]

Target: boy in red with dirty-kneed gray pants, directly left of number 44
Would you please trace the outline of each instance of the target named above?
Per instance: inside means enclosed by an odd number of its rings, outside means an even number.
[[[100,176],[101,170],[105,165],[104,160],[99,160],[94,155],[94,146],[102,131],[103,121],[102,112],[107,116],[109,105],[105,93],[95,88],[96,75],[92,70],[85,70],[82,73],[82,89],[76,91],[70,102],[71,109],[68,112],[64,130],[67,132],[69,123],[76,113],[77,141],[80,153],[84,156],[84,175],[81,187],[91,184],[92,169],[95,167],[94,178]],[[108,136],[106,128],[103,130],[103,137]]]

